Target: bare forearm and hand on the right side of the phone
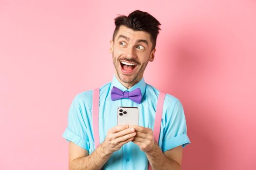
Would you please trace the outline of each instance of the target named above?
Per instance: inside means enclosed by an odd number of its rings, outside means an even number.
[[[149,128],[131,125],[137,131],[133,142],[145,152],[153,170],[180,170],[182,146],[162,153]]]

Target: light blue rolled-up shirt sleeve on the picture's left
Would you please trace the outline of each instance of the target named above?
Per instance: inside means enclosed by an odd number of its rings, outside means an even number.
[[[77,95],[71,103],[68,112],[68,126],[62,134],[62,137],[89,151],[90,144],[86,135],[86,129],[82,109],[79,104],[79,97]]]

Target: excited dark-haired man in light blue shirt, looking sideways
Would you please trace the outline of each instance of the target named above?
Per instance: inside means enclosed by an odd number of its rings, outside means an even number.
[[[115,19],[111,40],[115,75],[111,83],[100,87],[98,132],[95,146],[93,127],[93,91],[78,94],[73,100],[68,127],[63,133],[69,143],[70,170],[180,170],[182,147],[190,143],[181,102],[170,94],[164,98],[159,141],[153,137],[159,90],[145,83],[144,70],[154,61],[158,20],[142,11]],[[140,89],[141,101],[129,98],[113,100],[112,90]],[[117,126],[119,106],[138,107],[137,125]],[[96,148],[97,147],[97,148]]]

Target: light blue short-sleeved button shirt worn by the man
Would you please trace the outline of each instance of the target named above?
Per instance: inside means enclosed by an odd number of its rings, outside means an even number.
[[[130,99],[111,100],[113,86],[122,91],[140,88],[142,101],[140,104]],[[145,83],[142,78],[136,85],[127,89],[117,78],[100,87],[99,95],[99,142],[102,143],[110,128],[117,126],[117,109],[119,106],[138,107],[139,126],[154,130],[155,113],[159,90]],[[89,154],[95,150],[92,120],[93,90],[79,93],[71,103],[68,114],[68,126],[63,133],[67,141],[72,141]],[[159,147],[162,152],[179,145],[185,147],[190,143],[187,136],[186,120],[181,102],[170,94],[166,94],[163,106],[162,122],[159,136]],[[146,154],[133,142],[123,145],[112,154],[104,165],[104,170],[147,170]]]

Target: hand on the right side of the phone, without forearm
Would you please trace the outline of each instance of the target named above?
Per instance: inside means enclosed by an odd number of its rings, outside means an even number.
[[[141,151],[147,153],[158,146],[157,142],[154,140],[152,129],[137,125],[129,126],[130,128],[134,128],[137,133],[132,142],[137,144]]]

